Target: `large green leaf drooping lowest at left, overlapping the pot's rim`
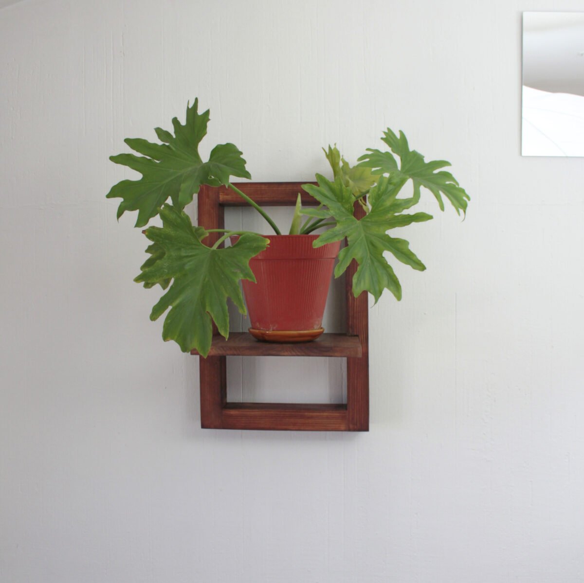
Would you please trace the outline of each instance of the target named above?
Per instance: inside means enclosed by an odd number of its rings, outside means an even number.
[[[171,308],[162,328],[164,340],[175,340],[184,352],[196,348],[206,357],[213,322],[222,336],[229,335],[227,299],[245,314],[239,280],[255,281],[249,260],[266,248],[267,239],[250,233],[241,235],[232,247],[211,249],[201,243],[200,228],[193,228],[185,212],[167,204],[160,215],[162,227],[152,226],[145,235],[164,256],[145,267],[134,281],[154,285],[172,278],[150,319],[158,319]]]

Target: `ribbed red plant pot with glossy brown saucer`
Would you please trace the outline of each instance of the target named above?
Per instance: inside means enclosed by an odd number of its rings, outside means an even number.
[[[237,237],[231,238],[232,242]],[[256,283],[243,280],[258,340],[304,342],[320,336],[340,241],[315,249],[318,235],[267,235],[269,246],[249,261]]]

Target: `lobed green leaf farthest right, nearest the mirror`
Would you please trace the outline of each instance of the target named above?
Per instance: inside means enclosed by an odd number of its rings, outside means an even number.
[[[420,188],[424,187],[434,195],[440,205],[440,210],[444,210],[442,196],[450,201],[457,214],[460,215],[460,211],[467,210],[470,196],[464,188],[459,186],[458,181],[450,172],[445,170],[437,172],[440,168],[450,166],[450,162],[446,160],[425,162],[422,154],[409,149],[408,140],[402,131],[399,132],[398,137],[390,128],[387,128],[381,139],[390,146],[394,154],[399,156],[401,162],[399,169],[390,152],[380,152],[371,148],[367,148],[369,153],[359,158],[361,162],[357,167],[372,168],[374,174],[389,174],[396,186],[400,184],[403,186],[406,181],[411,179],[413,197],[408,199],[412,203],[411,206],[420,200]],[[401,186],[399,187],[401,188]]]

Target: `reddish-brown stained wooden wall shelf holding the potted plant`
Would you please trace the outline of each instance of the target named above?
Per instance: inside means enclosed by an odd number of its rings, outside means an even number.
[[[259,205],[293,206],[301,193],[303,204],[315,204],[301,182],[256,182],[235,184]],[[199,225],[224,228],[224,208],[244,207],[241,197],[225,187],[201,186]],[[359,217],[363,210],[355,207]],[[219,237],[210,233],[212,245]],[[199,357],[201,427],[238,430],[369,431],[369,320],[367,293],[353,296],[353,263],[346,271],[346,334],[322,334],[302,344],[273,344],[255,340],[248,333],[232,332],[228,340],[215,330],[207,358]],[[197,354],[192,351],[192,354]],[[347,359],[347,402],[345,404],[228,403],[228,356],[312,356]]]

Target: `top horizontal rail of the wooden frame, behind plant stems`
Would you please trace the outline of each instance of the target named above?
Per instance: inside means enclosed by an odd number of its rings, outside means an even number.
[[[260,207],[293,207],[296,204],[298,193],[304,205],[318,205],[315,200],[302,189],[303,184],[316,184],[314,182],[238,182],[234,186],[247,194],[254,203]],[[248,203],[236,192],[220,186],[219,204],[224,207],[247,207]]]

